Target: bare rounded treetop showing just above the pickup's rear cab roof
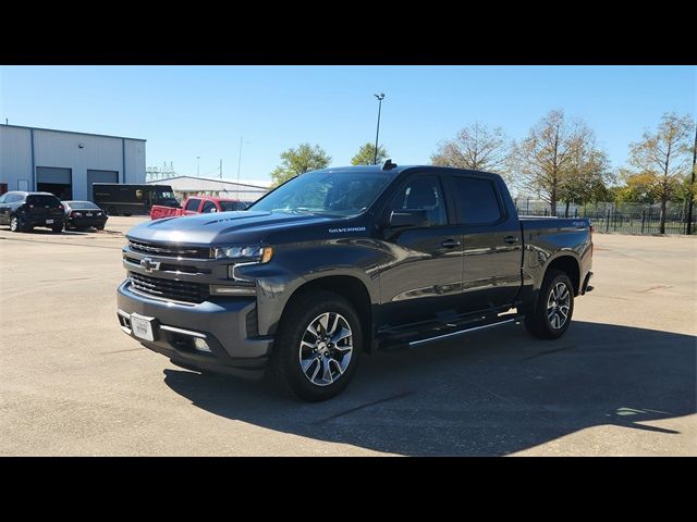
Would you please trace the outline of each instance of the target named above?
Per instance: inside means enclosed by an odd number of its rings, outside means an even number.
[[[431,164],[503,174],[508,157],[509,140],[503,129],[476,122],[453,139],[441,141],[431,156]]]

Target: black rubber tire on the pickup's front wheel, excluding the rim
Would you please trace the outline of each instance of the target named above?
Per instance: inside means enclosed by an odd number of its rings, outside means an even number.
[[[294,298],[292,302],[289,302],[288,307],[273,343],[271,361],[266,374],[267,380],[278,390],[293,391],[301,399],[310,402],[334,397],[348,386],[358,368],[363,351],[363,330],[358,314],[345,298],[329,291],[307,291]],[[316,384],[310,381],[311,376],[309,374],[306,375],[301,366],[301,352],[303,350],[301,341],[308,338],[306,337],[308,335],[307,328],[313,323],[317,324],[315,321],[325,313],[329,313],[329,318],[332,318],[332,314],[333,318],[337,318],[337,314],[339,314],[341,320],[347,323],[351,330],[350,343],[353,345],[353,349],[348,355],[343,373],[337,373],[334,378],[332,369],[338,372],[341,364],[343,364],[343,358],[345,357],[343,351],[337,348],[332,350],[333,345],[322,345],[319,350],[305,348],[305,350],[313,351],[313,353],[308,351],[308,358],[305,359],[306,362],[313,361],[306,366],[308,373],[313,373],[313,369],[322,369],[323,371],[325,368],[329,368],[330,383],[327,384],[323,377],[318,375],[316,378],[322,381],[322,384]],[[332,320],[330,319],[330,321]],[[317,330],[320,328],[318,327]],[[309,338],[311,339],[311,334]],[[344,340],[342,339],[337,344],[339,343],[344,343]],[[314,351],[323,351],[328,359],[323,360],[321,353],[315,357]],[[331,364],[331,361],[334,364]]]

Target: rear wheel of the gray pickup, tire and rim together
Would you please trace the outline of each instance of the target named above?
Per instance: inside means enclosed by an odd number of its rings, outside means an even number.
[[[574,313],[574,287],[565,272],[550,271],[542,282],[538,300],[525,315],[525,327],[535,337],[558,339],[571,323]]]

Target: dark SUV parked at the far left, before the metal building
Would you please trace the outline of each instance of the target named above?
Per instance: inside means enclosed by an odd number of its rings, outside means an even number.
[[[50,192],[11,191],[0,196],[0,224],[10,225],[12,232],[30,232],[35,226],[61,232],[64,220],[63,204]]]

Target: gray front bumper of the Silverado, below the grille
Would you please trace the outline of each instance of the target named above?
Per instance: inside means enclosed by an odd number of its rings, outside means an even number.
[[[121,330],[146,348],[162,353],[175,364],[197,370],[258,378],[264,374],[272,337],[250,336],[256,325],[256,300],[216,298],[199,304],[184,304],[147,298],[131,290],[125,281],[117,290]],[[130,323],[132,313],[155,318],[152,341],[136,337]],[[250,332],[254,334],[254,332]],[[210,352],[194,344],[203,338]]]

